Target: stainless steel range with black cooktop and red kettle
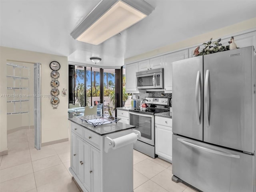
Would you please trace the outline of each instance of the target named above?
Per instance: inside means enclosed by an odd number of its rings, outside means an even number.
[[[141,138],[134,144],[134,149],[155,158],[155,121],[154,114],[170,110],[170,98],[145,99],[147,109],[133,108],[129,110],[130,125],[136,126]]]

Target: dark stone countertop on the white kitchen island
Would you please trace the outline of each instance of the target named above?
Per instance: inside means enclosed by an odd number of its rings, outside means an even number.
[[[128,125],[128,124],[121,123],[121,122],[117,122],[117,123],[114,122],[114,123],[98,125],[98,126],[94,127],[93,125],[90,125],[86,122],[82,122],[82,120],[79,117],[69,118],[68,120],[86,128],[98,135],[101,135],[101,136],[111,134],[114,132],[119,132],[119,131],[135,128],[135,126],[133,126],[133,125]]]

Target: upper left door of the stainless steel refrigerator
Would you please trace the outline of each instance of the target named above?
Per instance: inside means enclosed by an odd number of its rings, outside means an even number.
[[[176,134],[203,139],[203,57],[172,63],[172,130]]]

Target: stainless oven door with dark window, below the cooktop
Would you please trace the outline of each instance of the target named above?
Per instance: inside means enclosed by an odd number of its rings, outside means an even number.
[[[130,125],[136,126],[136,130],[140,131],[142,142],[155,145],[154,115],[142,114],[140,112],[129,113]]]

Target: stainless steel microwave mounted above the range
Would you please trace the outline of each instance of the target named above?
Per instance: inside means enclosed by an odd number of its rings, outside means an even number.
[[[137,89],[163,89],[164,68],[136,72]]]

